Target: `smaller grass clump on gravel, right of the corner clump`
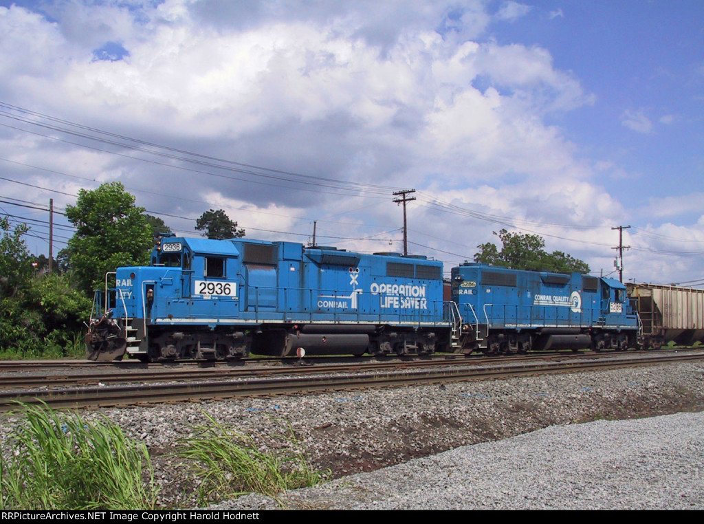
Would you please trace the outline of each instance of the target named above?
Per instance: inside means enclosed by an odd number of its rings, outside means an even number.
[[[208,425],[194,428],[196,435],[182,439],[177,452],[191,461],[201,481],[199,504],[208,504],[247,492],[275,497],[285,489],[308,487],[329,476],[310,468],[289,427],[281,438],[293,453],[262,451],[248,435],[222,425],[206,414]]]

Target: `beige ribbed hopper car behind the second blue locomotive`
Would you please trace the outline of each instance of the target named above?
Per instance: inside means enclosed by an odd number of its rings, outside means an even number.
[[[631,283],[627,289],[643,323],[643,348],[704,342],[703,289]]]

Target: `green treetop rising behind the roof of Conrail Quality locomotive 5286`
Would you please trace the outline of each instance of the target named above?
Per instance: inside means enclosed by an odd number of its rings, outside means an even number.
[[[510,233],[505,229],[498,233],[495,231],[494,235],[501,239],[501,251],[491,242],[479,244],[479,253],[474,255],[474,262],[511,269],[589,273],[589,265],[579,258],[562,251],[547,253],[543,249],[545,240],[540,235]]]

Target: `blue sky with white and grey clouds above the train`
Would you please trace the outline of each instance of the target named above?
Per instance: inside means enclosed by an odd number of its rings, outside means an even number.
[[[631,225],[624,278],[704,280],[699,0],[0,0],[0,53],[0,213],[37,254],[36,208],[101,182],[184,235],[223,208],[369,252],[414,188],[447,268],[506,227],[607,274]]]

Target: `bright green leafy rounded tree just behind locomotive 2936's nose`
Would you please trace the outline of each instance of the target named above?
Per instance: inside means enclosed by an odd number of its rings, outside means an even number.
[[[66,217],[76,227],[68,241],[70,267],[82,289],[102,287],[105,274],[119,266],[149,263],[151,227],[142,213],[120,182],[81,189],[76,205],[66,206]]]

